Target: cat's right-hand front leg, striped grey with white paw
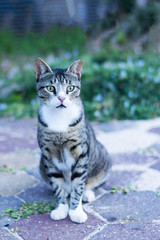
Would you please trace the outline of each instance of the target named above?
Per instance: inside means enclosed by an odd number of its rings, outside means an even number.
[[[82,195],[87,177],[87,159],[83,157],[80,159],[74,168],[71,181],[71,197],[70,197],[70,210],[69,216],[73,222],[83,223],[87,220],[87,214],[82,207]]]

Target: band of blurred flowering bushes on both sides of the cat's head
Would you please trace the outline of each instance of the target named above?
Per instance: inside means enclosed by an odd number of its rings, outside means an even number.
[[[74,56],[53,57],[53,62],[55,66],[67,67],[73,59]],[[123,54],[106,48],[94,55],[81,55],[81,59],[84,61],[81,97],[90,120],[148,119],[160,115],[159,56]],[[3,74],[2,78],[2,90],[10,90],[8,94],[0,92],[0,115],[36,116],[38,101],[33,66],[22,67],[9,78]]]

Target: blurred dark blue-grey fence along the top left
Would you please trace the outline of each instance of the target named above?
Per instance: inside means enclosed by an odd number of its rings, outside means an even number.
[[[106,3],[106,0],[0,0],[0,28],[19,33],[44,32],[53,24],[86,28],[106,15]]]

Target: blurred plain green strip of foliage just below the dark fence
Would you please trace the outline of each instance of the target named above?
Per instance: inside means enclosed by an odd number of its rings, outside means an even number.
[[[4,29],[0,31],[0,53],[46,55],[50,52],[83,51],[85,34],[78,27],[64,28],[51,27],[50,31],[39,35],[36,32],[28,32],[26,35],[15,35]],[[77,48],[78,47],[78,48]]]

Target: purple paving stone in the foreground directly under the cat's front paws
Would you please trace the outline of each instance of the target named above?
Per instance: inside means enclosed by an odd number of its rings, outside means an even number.
[[[73,223],[69,217],[53,221],[49,214],[43,214],[31,216],[30,219],[20,219],[9,228],[18,227],[18,235],[24,240],[82,240],[103,224],[104,222],[91,214],[88,214],[88,220],[83,224]]]

